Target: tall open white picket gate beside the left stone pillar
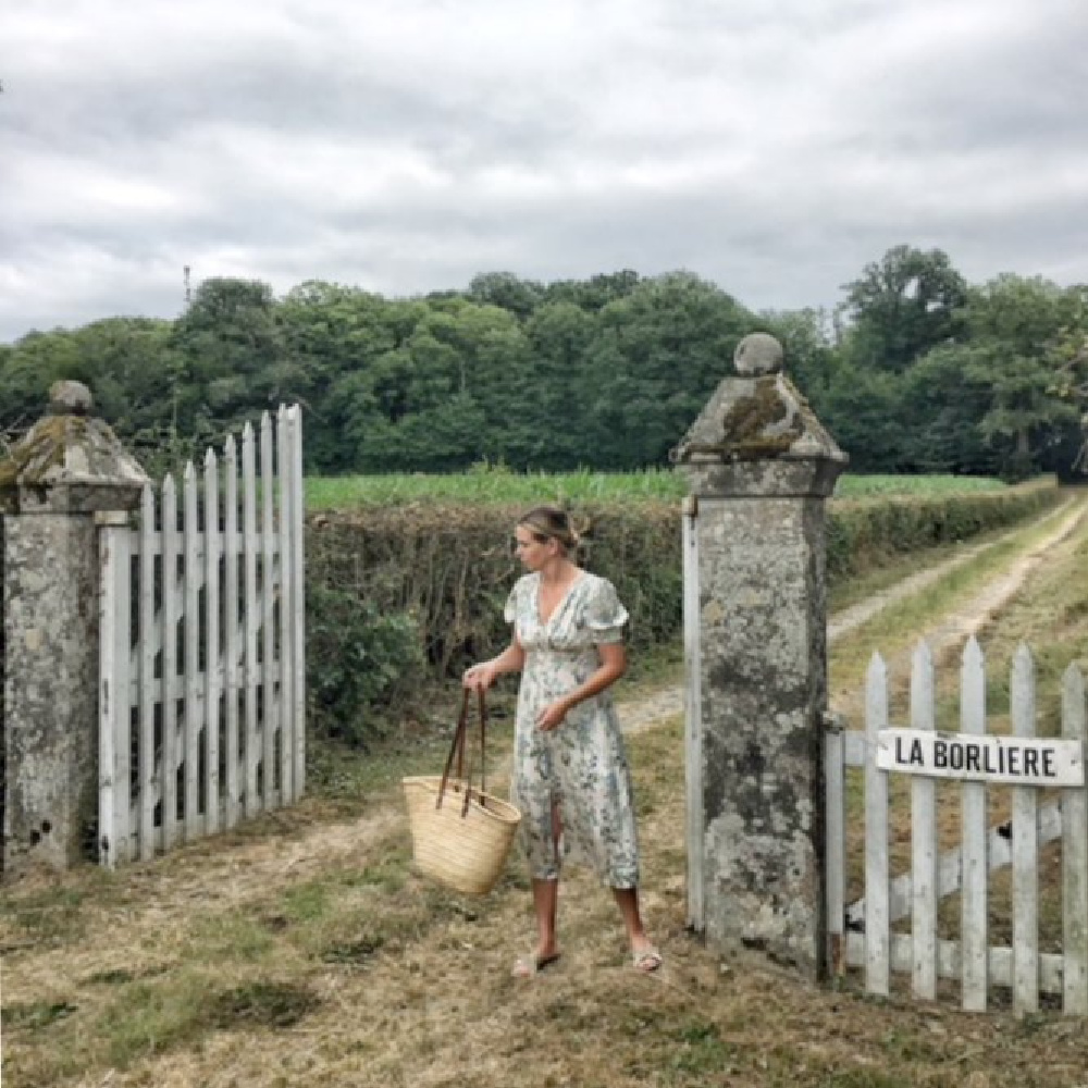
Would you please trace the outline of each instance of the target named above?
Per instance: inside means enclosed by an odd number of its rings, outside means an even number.
[[[201,479],[198,480],[198,477]],[[239,479],[240,477],[240,479]],[[182,517],[172,477],[138,527],[99,529],[99,855],[146,860],[306,787],[302,434],[297,406],[246,424]]]

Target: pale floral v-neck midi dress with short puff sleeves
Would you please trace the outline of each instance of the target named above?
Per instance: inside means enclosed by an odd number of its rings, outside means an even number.
[[[627,609],[605,578],[583,571],[547,622],[539,607],[540,574],[518,580],[506,603],[526,652],[515,724],[510,798],[521,811],[522,841],[536,880],[555,880],[562,858],[588,861],[611,888],[639,883],[631,772],[610,692],[579,703],[555,729],[537,729],[551,703],[599,667],[596,647],[621,642]],[[560,811],[557,856],[552,811]]]

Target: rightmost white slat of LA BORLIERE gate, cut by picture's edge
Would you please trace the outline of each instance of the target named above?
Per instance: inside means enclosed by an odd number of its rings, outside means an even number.
[[[1084,675],[1072,663],[1062,677],[1062,735],[1088,739]],[[1085,790],[1062,790],[1062,1007],[1088,1016],[1088,804]]]

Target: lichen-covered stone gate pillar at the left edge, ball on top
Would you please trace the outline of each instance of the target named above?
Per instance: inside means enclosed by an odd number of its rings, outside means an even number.
[[[69,867],[97,823],[97,527],[134,509],[147,477],[90,409],[86,386],[55,383],[0,463],[5,876]]]

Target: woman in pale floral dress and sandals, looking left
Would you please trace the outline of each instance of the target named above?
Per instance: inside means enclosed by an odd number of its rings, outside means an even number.
[[[609,581],[571,559],[578,537],[565,511],[537,507],[515,536],[529,573],[506,603],[514,638],[463,677],[465,687],[486,689],[504,672],[522,673],[511,800],[522,814],[537,943],[514,973],[534,975],[559,957],[560,849],[592,862],[616,897],[635,968],[656,970],[662,956],[639,913],[631,775],[608,691],[627,668],[627,610]]]

